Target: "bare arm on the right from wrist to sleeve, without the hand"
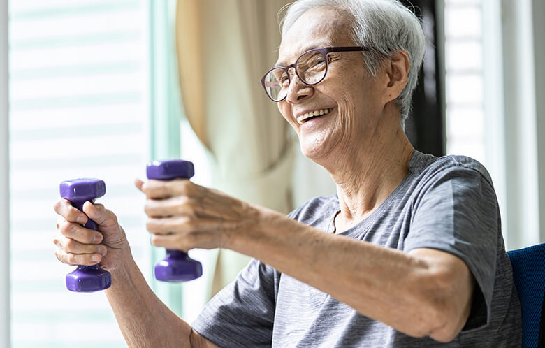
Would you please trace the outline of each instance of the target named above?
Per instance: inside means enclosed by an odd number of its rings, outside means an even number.
[[[226,247],[407,335],[449,342],[467,321],[474,280],[458,257],[434,249],[404,253],[261,213],[259,229],[241,229],[247,233],[236,233]]]

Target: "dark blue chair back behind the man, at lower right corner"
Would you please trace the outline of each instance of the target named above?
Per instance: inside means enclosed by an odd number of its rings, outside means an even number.
[[[507,254],[521,299],[523,347],[545,347],[545,243]]]

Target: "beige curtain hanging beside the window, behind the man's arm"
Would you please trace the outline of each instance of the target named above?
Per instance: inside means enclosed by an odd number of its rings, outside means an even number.
[[[214,157],[214,186],[250,203],[291,210],[288,124],[259,79],[277,59],[286,0],[178,0],[176,45],[184,110]],[[249,258],[220,250],[212,293]]]

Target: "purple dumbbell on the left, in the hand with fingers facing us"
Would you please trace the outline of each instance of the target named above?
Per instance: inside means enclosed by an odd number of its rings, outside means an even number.
[[[61,197],[72,202],[78,210],[83,211],[83,204],[87,201],[94,203],[95,198],[106,194],[106,184],[99,179],[75,179],[61,182]],[[87,219],[83,225],[86,229],[98,231],[96,222]],[[66,275],[66,288],[75,292],[92,292],[108,289],[112,284],[112,276],[99,265],[79,265],[72,273]]]

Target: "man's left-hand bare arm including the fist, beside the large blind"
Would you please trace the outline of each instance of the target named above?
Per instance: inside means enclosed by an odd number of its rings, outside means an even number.
[[[71,265],[91,266],[100,261],[112,274],[112,286],[106,296],[129,347],[217,347],[198,335],[191,326],[177,317],[148,287],[136,266],[125,233],[117,217],[103,205],[86,203],[85,214],[99,224],[102,235],[94,239],[96,231],[80,224],[87,216],[60,200],[55,211],[61,218],[59,234],[54,242],[59,261]],[[92,259],[95,256],[96,261]]]

